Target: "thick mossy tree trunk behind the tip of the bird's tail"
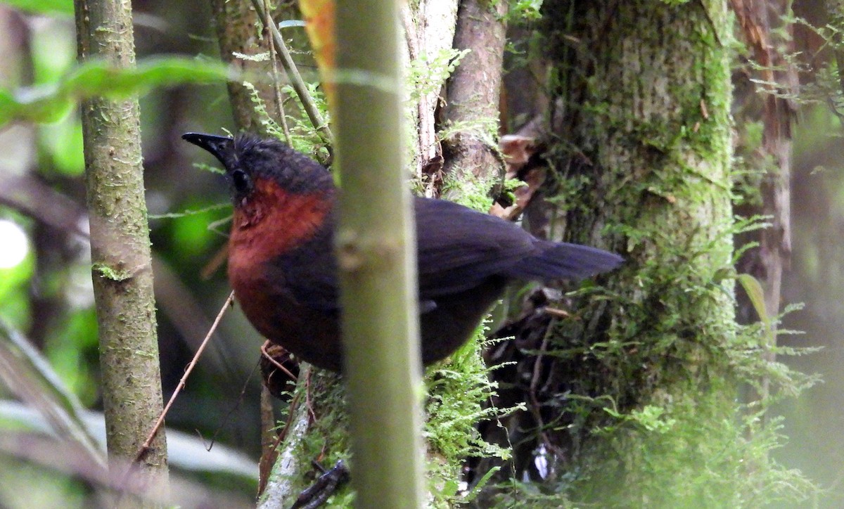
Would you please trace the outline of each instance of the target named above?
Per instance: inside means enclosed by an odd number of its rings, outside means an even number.
[[[548,221],[532,226],[627,261],[582,287],[569,317],[546,320],[549,334],[533,331],[542,354],[522,360],[532,408],[520,426],[534,437],[517,468],[576,502],[734,501],[726,2],[543,11],[555,199],[536,201]]]

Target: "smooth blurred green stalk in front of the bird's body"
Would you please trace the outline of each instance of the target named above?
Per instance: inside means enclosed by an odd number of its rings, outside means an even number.
[[[337,249],[355,504],[420,507],[422,384],[398,2],[338,2],[337,37]]]

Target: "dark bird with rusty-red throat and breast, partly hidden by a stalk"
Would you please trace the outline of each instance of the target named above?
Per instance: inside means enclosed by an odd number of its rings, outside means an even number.
[[[300,360],[343,370],[338,195],[329,171],[276,138],[185,133],[219,160],[234,214],[228,277],[252,326]],[[521,226],[442,199],[414,198],[421,359],[464,344],[512,281],[583,279],[623,258],[538,239]]]

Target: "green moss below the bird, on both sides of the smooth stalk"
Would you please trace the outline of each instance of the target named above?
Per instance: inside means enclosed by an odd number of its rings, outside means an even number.
[[[484,441],[476,428],[481,420],[494,419],[515,409],[496,409],[487,404],[495,396],[497,384],[490,382],[490,368],[484,365],[480,355],[484,327],[480,326],[475,335],[475,340],[431,366],[425,375],[428,392],[424,431],[428,448],[426,479],[429,479],[431,506],[435,507],[466,501],[468,495],[459,491],[458,481],[467,458],[506,459],[510,454],[509,450]],[[288,437],[288,441],[295,440],[292,448],[295,458],[303,465],[311,460],[319,460],[323,466],[333,465],[338,459],[354,463],[349,454],[349,420],[342,378],[327,371],[303,371],[300,382],[289,396],[298,405],[309,405],[308,411],[313,416],[311,428],[305,435]],[[300,411],[295,410],[293,414]],[[305,490],[318,475],[313,468],[307,467],[297,469],[296,474],[295,479],[287,479],[293,486],[291,493]],[[354,493],[346,485],[332,496],[327,506],[349,506],[353,499]]]

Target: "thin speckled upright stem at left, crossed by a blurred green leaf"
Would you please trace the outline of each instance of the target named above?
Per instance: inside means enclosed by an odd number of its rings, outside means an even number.
[[[74,7],[80,62],[132,68],[129,0],[76,0]],[[86,100],[82,125],[108,453],[131,461],[162,408],[138,100]],[[141,463],[155,477],[150,487],[163,489],[164,430]]]

